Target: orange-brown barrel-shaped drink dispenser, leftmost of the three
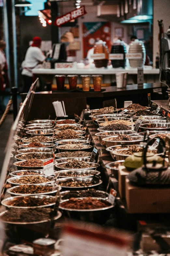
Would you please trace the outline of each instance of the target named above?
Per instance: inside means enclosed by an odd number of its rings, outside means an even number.
[[[96,68],[107,67],[109,59],[109,51],[106,42],[99,40],[94,45],[94,56],[96,54],[96,59],[94,58],[94,64]],[[99,54],[101,54],[101,59]]]

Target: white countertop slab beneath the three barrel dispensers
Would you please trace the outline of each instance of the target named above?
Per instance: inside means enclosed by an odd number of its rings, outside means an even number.
[[[47,74],[47,75],[68,75],[68,74],[77,74],[77,75],[114,75],[116,73],[128,72],[128,74],[137,74],[137,68],[83,68],[83,69],[75,69],[75,68],[57,68],[57,69],[45,69],[45,68],[34,68],[34,74]],[[150,66],[144,67],[144,74],[159,74],[159,69],[152,68]]]

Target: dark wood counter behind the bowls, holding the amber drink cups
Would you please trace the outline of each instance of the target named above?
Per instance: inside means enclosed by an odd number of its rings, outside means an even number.
[[[133,103],[141,105],[148,104],[148,93],[151,93],[151,99],[162,99],[160,94],[154,94],[153,90],[161,88],[166,90],[166,86],[160,83],[143,84],[142,86],[127,85],[126,88],[117,88],[116,86],[103,87],[103,92],[37,92],[35,93],[32,108],[29,113],[28,120],[34,118],[46,119],[49,117],[55,118],[55,111],[52,105],[53,101],[64,101],[65,110],[67,115],[76,113],[80,115],[82,109],[86,109],[89,104],[91,109],[102,108],[107,106],[107,100],[116,98],[117,107],[124,106],[125,100],[132,100]],[[162,94],[163,95],[163,94]],[[26,94],[21,94],[22,101],[25,99]],[[109,105],[110,106],[110,105]]]

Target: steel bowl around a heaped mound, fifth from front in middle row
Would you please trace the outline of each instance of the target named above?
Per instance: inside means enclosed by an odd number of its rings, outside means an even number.
[[[89,168],[78,168],[78,169],[96,169],[97,167],[100,166],[100,164],[97,164],[97,163],[93,163],[93,162],[89,162],[89,158],[83,158],[83,157],[70,157],[70,158],[60,158],[60,159],[57,159],[56,162],[57,164],[55,164],[55,166],[57,167],[57,169],[59,171],[64,171],[64,170],[72,170],[71,168],[65,168],[65,167],[62,167],[62,165],[64,163],[67,163],[68,159],[77,159],[79,161],[84,161],[84,162],[88,162],[88,164],[90,164],[92,167],[89,167]],[[65,162],[64,162],[65,161]],[[75,169],[75,168],[73,168]]]

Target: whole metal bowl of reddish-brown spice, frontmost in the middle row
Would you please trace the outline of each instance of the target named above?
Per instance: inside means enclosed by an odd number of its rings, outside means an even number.
[[[66,217],[69,216],[71,219],[83,219],[88,222],[105,224],[113,211],[113,206],[114,205],[102,198],[79,197],[61,201],[59,208]],[[83,207],[85,209],[81,209]]]

